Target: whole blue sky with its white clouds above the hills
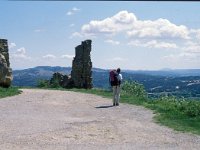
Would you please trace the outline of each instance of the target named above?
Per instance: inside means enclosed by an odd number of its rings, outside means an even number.
[[[200,68],[200,3],[1,1],[13,69],[71,66],[92,39],[93,67]]]

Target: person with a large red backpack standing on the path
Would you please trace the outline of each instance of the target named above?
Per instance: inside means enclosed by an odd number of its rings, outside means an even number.
[[[113,89],[113,106],[119,106],[119,99],[120,99],[120,85],[122,82],[122,75],[121,69],[118,68],[117,70],[110,71],[110,85]]]

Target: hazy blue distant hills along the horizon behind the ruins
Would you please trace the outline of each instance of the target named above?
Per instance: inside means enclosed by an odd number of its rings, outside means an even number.
[[[98,88],[110,88],[109,70],[93,68],[93,85]],[[37,85],[39,79],[50,79],[54,72],[70,74],[71,67],[38,66],[35,68],[14,70],[14,86]],[[184,97],[200,97],[200,69],[135,71],[124,70],[124,80],[137,81],[144,85],[151,97],[175,95]]]

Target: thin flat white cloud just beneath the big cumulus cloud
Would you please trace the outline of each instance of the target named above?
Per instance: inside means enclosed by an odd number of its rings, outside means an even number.
[[[147,48],[163,48],[163,49],[174,49],[178,48],[178,46],[175,43],[168,43],[168,42],[158,42],[156,40],[151,40],[148,42],[141,42],[139,40],[134,40],[128,43],[128,45],[131,46],[137,46],[137,47],[147,47]]]

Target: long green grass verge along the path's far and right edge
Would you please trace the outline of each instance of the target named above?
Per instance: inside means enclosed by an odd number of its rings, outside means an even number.
[[[102,89],[71,89],[70,91],[112,98],[112,92]],[[168,126],[176,131],[200,135],[200,101],[178,100],[170,97],[152,100],[131,95],[121,95],[120,102],[140,105],[153,110],[156,114],[154,117],[155,122],[161,125]]]

